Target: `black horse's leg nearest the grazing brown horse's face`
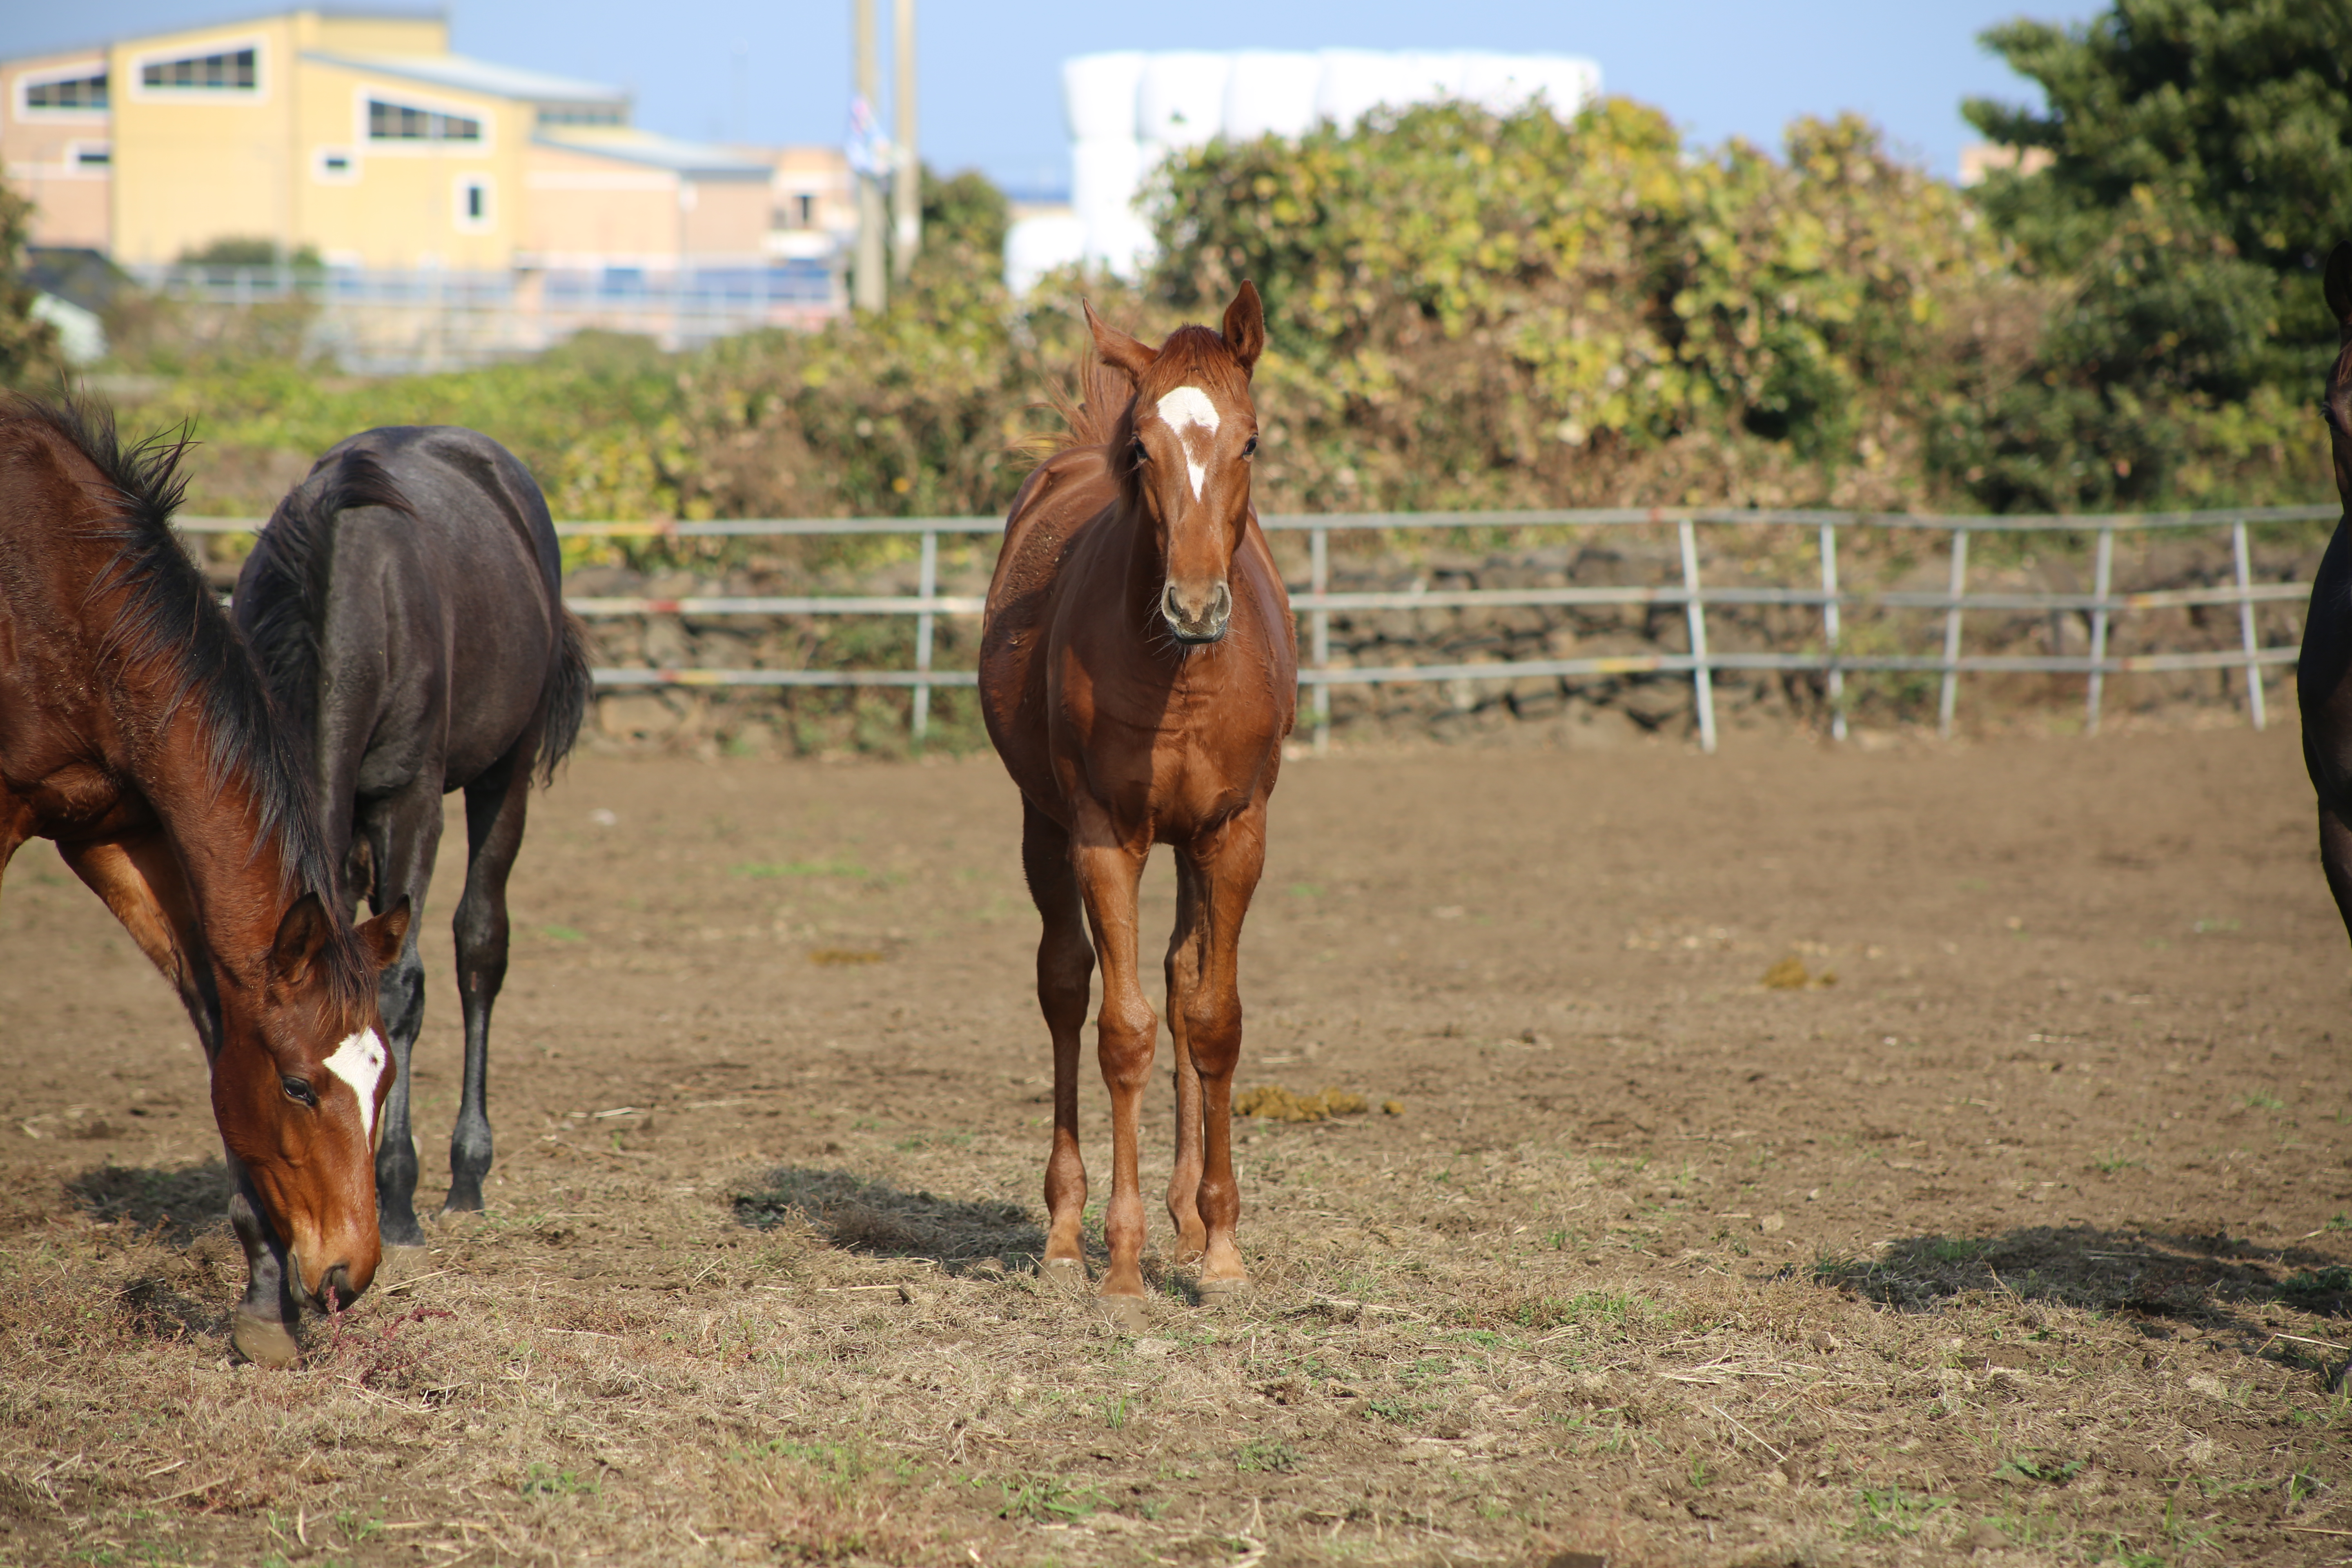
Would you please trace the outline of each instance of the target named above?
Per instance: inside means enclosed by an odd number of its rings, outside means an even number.
[[[433,886],[433,856],[440,851],[442,802],[440,780],[412,783],[390,799],[374,802],[360,827],[376,865],[376,886],[367,903],[381,914],[409,900],[423,914]],[[376,1140],[376,1227],[386,1246],[423,1246],[426,1229],[416,1222],[416,1135],[409,1131],[409,1058],[426,1023],[426,961],[416,952],[421,919],[409,922],[409,940],[400,957],[376,976],[376,1004],[393,1046],[393,1093],[383,1098],[383,1135]]]

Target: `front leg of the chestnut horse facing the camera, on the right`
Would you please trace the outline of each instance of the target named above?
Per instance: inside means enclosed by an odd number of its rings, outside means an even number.
[[[1200,980],[1183,1004],[1183,1032],[1192,1046],[1192,1070],[1200,1072],[1200,1218],[1209,1232],[1200,1293],[1216,1298],[1249,1284],[1249,1267],[1232,1234],[1242,1218],[1242,1190],[1232,1178],[1232,1070],[1242,1060],[1242,919],[1265,870],[1265,802],[1209,839],[1185,846],[1185,853],[1192,856],[1197,877],[1200,924]]]

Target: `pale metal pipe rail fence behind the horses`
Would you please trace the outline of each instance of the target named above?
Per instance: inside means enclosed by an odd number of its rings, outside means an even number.
[[[1715,750],[1715,672],[1776,670],[1818,672],[1825,677],[1832,733],[1846,733],[1849,672],[1919,672],[1938,677],[1936,726],[1952,731],[1959,677],[1987,672],[2084,675],[2084,731],[2096,733],[2107,675],[2147,675],[2173,670],[2239,670],[2246,689],[2246,717],[2256,729],[2267,722],[2263,670],[2296,663],[2293,646],[2263,646],[2256,625],[2258,604],[2300,602],[2310,583],[2256,583],[2246,531],[2263,524],[2324,522],[2336,505],[2274,505],[2201,512],[2136,515],[1926,515],[1926,512],[1830,512],[1830,510],[1736,510],[1736,508],[1562,508],[1496,512],[1315,512],[1270,515],[1261,524],[1270,534],[1308,536],[1308,583],[1291,595],[1291,609],[1305,621],[1308,658],[1298,684],[1308,696],[1315,745],[1331,738],[1331,686],[1369,686],[1392,682],[1477,682],[1512,677],[1613,677],[1613,675],[1686,675],[1698,717],[1698,738]],[[183,517],[188,534],[252,534],[252,517]],[[1679,555],[1679,583],[1595,585],[1595,588],[1468,588],[1402,592],[1334,592],[1331,534],[1341,531],[1432,531],[1432,529],[1618,529],[1672,527]],[[1820,567],[1818,588],[1708,588],[1700,576],[1700,527],[1809,527],[1816,531]],[[971,595],[938,592],[938,538],[1000,534],[997,517],[736,517],[717,522],[560,522],[567,538],[762,538],[823,534],[913,534],[920,536],[917,592],[913,595],[708,595],[708,597],[574,597],[574,614],[612,616],[915,616],[915,665],[910,670],[699,670],[699,668],[600,668],[600,689],[626,686],[903,686],[910,689],[910,731],[922,743],[929,729],[931,691],[974,686],[971,670],[938,670],[931,663],[938,616],[976,616],[983,602]],[[1943,592],[1853,590],[1839,581],[1839,531],[1912,529],[1947,534],[1947,578]],[[2152,592],[2114,592],[2114,536],[2227,529],[2234,581],[2216,588],[2171,588]],[[1969,538],[1976,534],[2096,534],[2091,592],[1969,592]],[[2180,654],[2110,656],[2114,616],[2150,609],[2237,607],[2239,646]],[[1486,607],[1646,607],[1682,609],[1689,637],[1684,654],[1625,654],[1595,658],[1517,658],[1496,663],[1414,663],[1414,665],[1334,665],[1331,616],[1392,609],[1486,609]],[[1797,654],[1710,651],[1708,607],[1783,607],[1811,609],[1820,616],[1820,649]],[[1849,611],[1907,609],[1943,611],[1940,654],[1872,654],[1842,646]],[[1969,611],[2082,614],[2091,628],[2089,656],[2067,654],[1966,654],[1964,616]]]

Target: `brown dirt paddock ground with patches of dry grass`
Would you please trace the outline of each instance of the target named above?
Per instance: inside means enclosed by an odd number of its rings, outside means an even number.
[[[1155,1258],[1150,1338],[1033,1274],[990,757],[583,757],[534,811],[492,1208],[294,1373],[228,1359],[188,1025],[19,856],[0,1561],[2352,1561],[2291,726],[1294,759],[1240,1081],[1371,1110],[1244,1124],[1256,1291]]]

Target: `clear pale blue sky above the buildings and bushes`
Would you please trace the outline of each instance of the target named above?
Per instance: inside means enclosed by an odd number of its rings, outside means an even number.
[[[1795,115],[1851,108],[1950,176],[1971,139],[1964,96],[2034,96],[1976,35],[2018,14],[2084,21],[2103,9],[2079,0],[917,5],[924,158],[1018,188],[1068,181],[1058,73],[1068,54],[1329,45],[1585,54],[1609,92],[1661,106],[1703,143],[1740,134],[1778,148]],[[259,9],[270,7],[0,0],[0,56]],[[880,9],[887,31],[889,0]],[[616,82],[637,94],[640,125],[673,136],[837,141],[847,118],[849,0],[452,0],[449,16],[463,54]]]

